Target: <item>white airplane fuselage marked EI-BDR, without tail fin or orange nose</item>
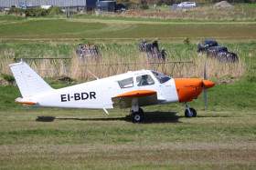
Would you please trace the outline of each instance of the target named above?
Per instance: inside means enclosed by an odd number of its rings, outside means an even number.
[[[141,75],[151,75],[155,83],[144,86],[137,85],[136,77]],[[133,85],[122,88],[119,81],[126,78],[133,78]],[[108,109],[113,108],[112,98],[114,96],[138,90],[152,90],[156,92],[157,99],[148,103],[150,105],[179,101],[175,80],[170,78],[161,84],[150,70],[128,72],[123,75],[114,75],[80,85],[53,89],[38,95],[25,97],[23,100],[37,102],[37,105],[31,106]]]

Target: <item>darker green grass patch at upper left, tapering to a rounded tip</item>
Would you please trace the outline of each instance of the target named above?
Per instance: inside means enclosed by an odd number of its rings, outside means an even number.
[[[79,22],[67,22],[65,20],[57,19],[40,19],[27,20],[19,23],[18,26],[13,24],[0,27],[1,37],[10,38],[65,38],[67,35],[86,32],[87,30],[97,30],[103,28],[104,25],[91,23],[84,24]]]

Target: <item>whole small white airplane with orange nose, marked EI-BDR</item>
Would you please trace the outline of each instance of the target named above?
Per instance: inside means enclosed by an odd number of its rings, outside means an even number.
[[[69,107],[107,109],[114,107],[132,108],[134,123],[142,122],[144,110],[141,106],[167,103],[185,103],[186,117],[197,116],[197,111],[190,108],[191,102],[206,89],[214,86],[211,81],[200,78],[171,78],[151,70],[129,71],[122,75],[53,89],[25,62],[9,65],[23,98],[16,102],[34,107]],[[206,70],[206,66],[205,66]]]

